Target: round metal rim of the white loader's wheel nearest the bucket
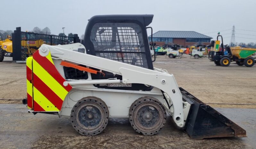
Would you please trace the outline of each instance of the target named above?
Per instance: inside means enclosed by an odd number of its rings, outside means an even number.
[[[161,127],[164,113],[154,103],[143,103],[133,113],[134,125],[143,132],[153,132]],[[146,134],[147,135],[147,134]]]

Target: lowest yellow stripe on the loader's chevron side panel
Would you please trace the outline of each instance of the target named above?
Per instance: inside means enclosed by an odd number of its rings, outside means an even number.
[[[34,87],[34,100],[40,105],[45,111],[59,111],[43,94],[40,93]]]

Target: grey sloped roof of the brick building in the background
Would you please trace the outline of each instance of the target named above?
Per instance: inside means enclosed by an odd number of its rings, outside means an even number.
[[[149,36],[151,37],[151,35]],[[195,31],[158,31],[153,34],[154,38],[210,38],[212,37],[197,33]]]

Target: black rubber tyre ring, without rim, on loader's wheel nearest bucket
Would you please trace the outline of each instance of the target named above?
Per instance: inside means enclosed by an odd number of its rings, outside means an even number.
[[[161,126],[158,127],[158,129],[154,130],[154,131],[151,131],[151,132],[143,132],[141,131],[140,129],[138,129],[134,122],[133,122],[133,112],[135,111],[136,107],[138,107],[139,105],[143,104],[143,103],[146,103],[146,102],[150,102],[150,103],[153,103],[153,104],[156,104],[156,106],[158,106],[162,112],[163,112],[163,115],[164,117],[162,118],[162,123],[161,123]],[[162,103],[156,99],[156,98],[153,98],[153,97],[148,97],[148,96],[145,96],[145,97],[141,97],[137,100],[135,100],[133,103],[132,103],[132,106],[130,107],[130,110],[129,110],[129,122],[131,123],[131,126],[132,128],[138,132],[138,133],[142,133],[144,136],[152,136],[152,135],[155,135],[157,134],[165,125],[166,123],[166,109],[165,107],[162,105]]]

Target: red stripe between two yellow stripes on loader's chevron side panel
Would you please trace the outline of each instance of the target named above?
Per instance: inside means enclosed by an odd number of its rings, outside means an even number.
[[[36,74],[33,73],[33,84],[57,109],[61,110],[63,100],[59,98]]]

